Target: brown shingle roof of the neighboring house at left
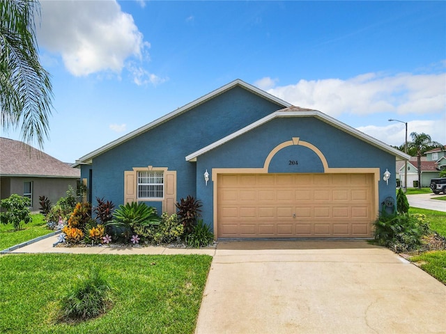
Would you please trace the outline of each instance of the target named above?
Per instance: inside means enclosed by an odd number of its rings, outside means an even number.
[[[79,179],[80,170],[21,141],[0,137],[0,175]]]

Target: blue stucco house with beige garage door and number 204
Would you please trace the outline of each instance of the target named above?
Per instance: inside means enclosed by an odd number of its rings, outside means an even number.
[[[146,202],[171,214],[194,196],[219,239],[369,238],[383,202],[395,198],[395,161],[408,158],[236,80],[74,166],[89,200]]]

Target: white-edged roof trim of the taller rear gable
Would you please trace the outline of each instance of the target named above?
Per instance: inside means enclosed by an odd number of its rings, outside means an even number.
[[[101,148],[98,148],[98,150],[94,150],[93,152],[90,152],[89,154],[84,155],[84,157],[81,157],[78,159],[75,164],[73,164],[73,167],[77,167],[81,164],[91,164],[91,161],[93,158],[98,157],[98,155],[107,152],[108,150],[111,150],[112,148],[115,148],[116,146],[120,145],[121,143],[125,143],[125,141],[130,141],[130,139],[139,136],[140,134],[143,134],[144,132],[147,132],[148,130],[153,129],[154,127],[157,127],[158,125],[162,125],[164,122],[167,122],[171,120],[172,118],[175,118],[176,116],[179,116],[190,109],[195,108],[196,106],[199,106],[200,104],[203,104],[204,102],[207,102],[208,100],[213,99],[214,97],[217,97],[218,95],[221,95],[222,93],[231,90],[232,88],[239,86],[241,88],[244,88],[245,90],[249,90],[249,92],[254,93],[256,95],[259,95],[263,97],[266,100],[269,100],[270,102],[273,102],[277,104],[279,107],[287,107],[291,106],[289,102],[286,102],[284,100],[279,99],[279,97],[275,97],[274,95],[271,95],[270,93],[266,93],[264,90],[261,90],[255,86],[252,86],[250,84],[247,84],[245,81],[242,81],[240,79],[236,79],[234,81],[231,81],[229,84],[226,84],[220,88],[217,88],[216,90],[213,90],[212,92],[203,95],[202,97],[199,97],[197,100],[194,100],[188,104],[185,104],[184,106],[176,109],[175,111],[171,111],[171,113],[168,113],[167,115],[164,115],[157,120],[154,120],[153,122],[148,123],[147,125],[144,125],[143,127],[140,127],[139,129],[134,130],[133,132],[130,132],[129,134],[126,134],[125,136],[122,136],[121,138],[116,139],[116,141],[112,141],[111,143],[108,143],[107,145],[102,146]]]

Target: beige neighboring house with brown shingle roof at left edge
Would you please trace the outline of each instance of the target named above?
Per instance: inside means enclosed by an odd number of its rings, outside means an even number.
[[[77,188],[80,170],[21,141],[0,137],[0,199],[13,193],[31,199],[31,211],[40,208],[39,196],[52,204]]]

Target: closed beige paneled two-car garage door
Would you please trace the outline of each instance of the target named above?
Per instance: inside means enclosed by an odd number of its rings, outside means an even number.
[[[371,237],[372,174],[218,175],[219,238]]]

